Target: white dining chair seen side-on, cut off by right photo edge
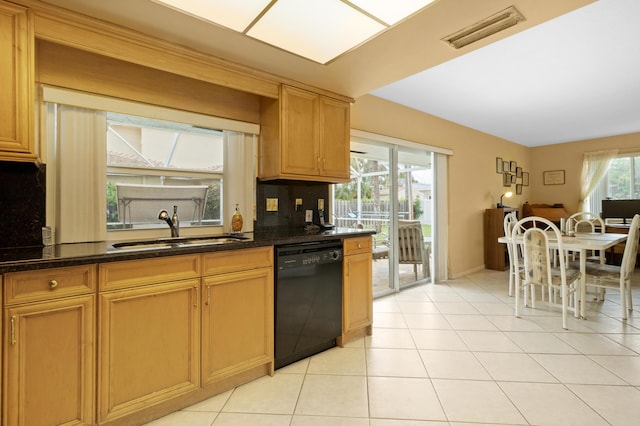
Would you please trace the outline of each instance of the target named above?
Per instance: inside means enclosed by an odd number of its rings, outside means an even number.
[[[620,291],[623,320],[627,319],[627,311],[633,310],[631,276],[635,270],[638,255],[638,226],[640,226],[640,215],[636,214],[631,221],[620,266],[588,262],[585,270],[587,286]]]

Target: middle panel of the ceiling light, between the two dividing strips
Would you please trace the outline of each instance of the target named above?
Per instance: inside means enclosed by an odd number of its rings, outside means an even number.
[[[385,28],[340,0],[278,0],[247,35],[324,64]]]

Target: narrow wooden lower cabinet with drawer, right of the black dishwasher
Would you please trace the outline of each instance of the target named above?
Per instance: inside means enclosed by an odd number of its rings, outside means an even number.
[[[370,236],[344,240],[342,275],[343,345],[353,337],[371,335],[373,323],[372,240]]]

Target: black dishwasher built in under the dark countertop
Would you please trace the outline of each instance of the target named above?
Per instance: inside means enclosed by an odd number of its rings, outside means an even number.
[[[336,345],[342,334],[342,242],[276,246],[275,368]]]

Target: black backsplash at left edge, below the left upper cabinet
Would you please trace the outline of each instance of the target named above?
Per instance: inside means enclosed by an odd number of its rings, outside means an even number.
[[[0,161],[0,247],[42,245],[46,166]]]

